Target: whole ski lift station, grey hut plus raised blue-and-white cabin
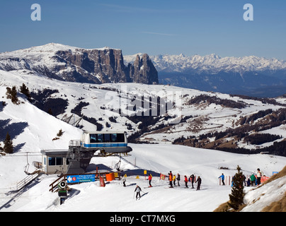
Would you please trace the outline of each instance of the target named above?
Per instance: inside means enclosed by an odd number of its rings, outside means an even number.
[[[92,157],[128,155],[125,132],[87,132],[81,140],[69,141],[68,150],[41,150],[42,172],[46,174],[84,174]]]

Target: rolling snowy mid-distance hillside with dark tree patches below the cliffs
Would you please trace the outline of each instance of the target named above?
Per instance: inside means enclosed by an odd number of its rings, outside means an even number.
[[[122,111],[125,111],[123,113],[130,116],[149,109],[142,104],[142,96],[160,97],[162,100],[169,100],[171,101],[171,107],[167,111],[169,118],[165,118],[165,112],[159,112],[159,114],[154,115],[154,117],[160,117],[161,115],[159,121],[150,125],[151,132],[144,133],[144,136],[139,138],[141,141],[151,143],[171,143],[181,136],[198,136],[210,131],[225,131],[237,126],[236,122],[241,117],[265,109],[276,110],[282,107],[261,102],[261,100],[246,100],[241,97],[231,97],[227,94],[203,92],[171,85],[143,85],[136,83],[93,85],[57,81],[39,76],[37,73],[32,73],[28,70],[0,71],[0,85],[2,87],[16,85],[19,88],[23,83],[27,85],[30,91],[35,93],[38,90],[45,89],[58,90],[57,93],[53,93],[50,97],[62,98],[68,102],[64,113],[57,115],[58,119],[72,117],[71,121],[76,121],[79,119],[79,115],[72,114],[71,109],[78,106],[80,102],[86,102],[88,106],[81,109],[81,114],[96,119],[103,126],[104,131],[122,129],[127,131],[129,135],[139,131],[140,122],[132,121],[130,117],[122,117],[122,114],[119,114],[119,109],[122,109]],[[5,93],[5,88],[3,92]],[[4,93],[2,96],[5,96]],[[239,109],[214,103],[207,104],[204,101],[200,104],[190,104],[190,100],[200,95],[230,100],[234,103],[244,103],[245,107]],[[176,96],[178,99],[176,99]],[[285,103],[285,99],[285,97],[281,97],[279,102]],[[128,111],[125,110],[126,107],[128,107]],[[116,122],[110,121],[110,117],[115,118]],[[106,126],[106,124],[109,124],[110,127]],[[96,125],[86,120],[81,121],[81,125],[84,126],[83,129],[86,131],[97,129]],[[128,125],[131,125],[131,128]],[[156,129],[157,126],[163,128],[164,125],[171,127],[168,127],[168,130]],[[283,128],[280,128],[280,130],[284,131]],[[285,137],[285,133],[281,133],[281,135]]]

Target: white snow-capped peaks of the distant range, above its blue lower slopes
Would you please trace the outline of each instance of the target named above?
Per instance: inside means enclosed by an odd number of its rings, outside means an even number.
[[[124,58],[127,60],[127,56],[124,56]],[[206,56],[194,55],[192,57],[186,57],[184,54],[164,54],[151,56],[150,58],[158,71],[165,72],[194,70],[198,73],[210,74],[220,71],[244,74],[247,71],[270,71],[275,73],[276,71],[286,69],[286,61],[255,56],[219,57],[216,54],[210,54]]]

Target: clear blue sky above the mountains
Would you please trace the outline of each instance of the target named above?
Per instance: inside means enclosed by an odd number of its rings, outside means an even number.
[[[32,4],[41,20],[33,21]],[[253,20],[244,20],[245,4]],[[56,42],[123,55],[217,54],[286,60],[284,0],[1,0],[0,52]]]

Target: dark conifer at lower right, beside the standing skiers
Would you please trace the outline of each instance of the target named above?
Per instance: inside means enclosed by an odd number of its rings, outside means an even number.
[[[234,210],[238,210],[239,206],[244,203],[244,175],[241,172],[241,167],[237,166],[237,173],[234,175],[231,194],[229,194],[229,206]]]

